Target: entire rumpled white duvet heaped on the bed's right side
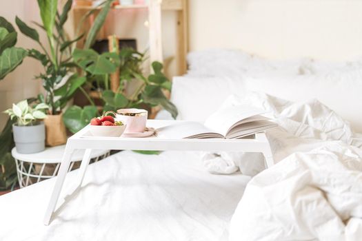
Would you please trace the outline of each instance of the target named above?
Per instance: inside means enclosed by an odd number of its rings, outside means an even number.
[[[316,100],[290,103],[255,93],[245,99],[228,104],[263,107],[279,123],[267,133],[279,163],[248,183],[232,217],[230,240],[362,240],[359,135]],[[223,165],[239,163],[228,159]]]

